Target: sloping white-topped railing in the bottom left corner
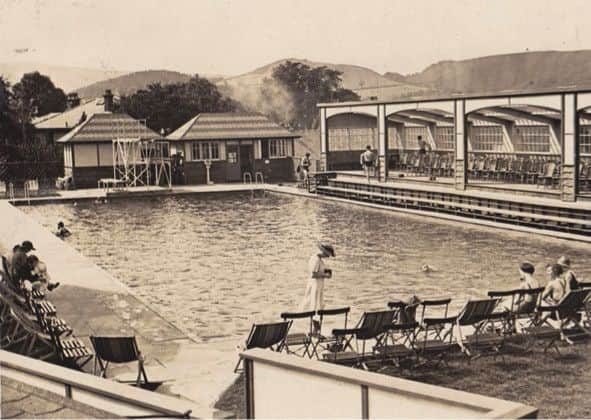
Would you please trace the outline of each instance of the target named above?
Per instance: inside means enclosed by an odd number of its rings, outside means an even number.
[[[191,401],[0,350],[2,376],[121,417],[211,417]]]

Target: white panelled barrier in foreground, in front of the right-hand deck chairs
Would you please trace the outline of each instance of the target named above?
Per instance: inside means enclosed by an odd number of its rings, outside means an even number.
[[[524,418],[537,409],[269,350],[241,354],[248,418]]]

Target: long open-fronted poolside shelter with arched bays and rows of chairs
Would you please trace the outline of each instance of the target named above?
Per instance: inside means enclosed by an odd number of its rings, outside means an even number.
[[[319,104],[325,170],[574,201],[591,195],[591,93],[566,89]],[[419,153],[418,137],[427,152]]]

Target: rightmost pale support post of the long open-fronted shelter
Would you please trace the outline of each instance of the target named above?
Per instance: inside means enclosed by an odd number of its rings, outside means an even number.
[[[562,201],[577,199],[577,167],[579,165],[577,95],[562,95],[562,168],[560,172],[560,197]]]

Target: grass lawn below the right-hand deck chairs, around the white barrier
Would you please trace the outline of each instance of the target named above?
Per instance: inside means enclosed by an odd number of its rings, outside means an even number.
[[[453,357],[449,367],[411,371],[388,369],[384,374],[487,395],[539,408],[540,418],[591,418],[591,343],[530,353],[506,350],[504,361],[481,358],[470,364]],[[216,403],[216,408],[245,417],[244,379],[238,377]]]

